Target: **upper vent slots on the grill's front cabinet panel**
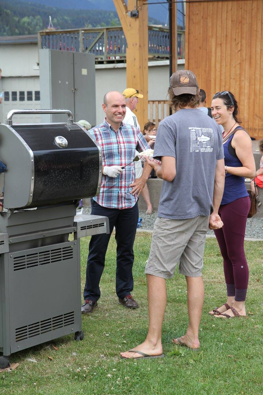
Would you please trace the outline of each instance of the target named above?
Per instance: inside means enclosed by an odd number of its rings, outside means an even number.
[[[46,250],[41,252],[35,252],[34,254],[26,254],[21,256],[15,256],[13,258],[14,271],[28,269],[30,267],[47,265],[47,263],[55,263],[65,261],[73,258],[73,247],[67,246],[63,248],[53,248],[52,250]]]

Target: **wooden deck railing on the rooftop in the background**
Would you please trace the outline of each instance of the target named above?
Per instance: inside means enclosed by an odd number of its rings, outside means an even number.
[[[38,47],[60,51],[94,53],[96,61],[125,61],[127,41],[121,26],[69,30],[41,30]],[[177,56],[185,58],[185,31],[177,32]],[[169,58],[168,28],[148,26],[148,56]]]

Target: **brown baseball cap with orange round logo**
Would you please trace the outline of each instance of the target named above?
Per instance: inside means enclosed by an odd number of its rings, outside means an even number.
[[[184,93],[196,95],[198,92],[196,76],[191,70],[177,70],[170,78],[170,88],[172,88],[175,96]]]

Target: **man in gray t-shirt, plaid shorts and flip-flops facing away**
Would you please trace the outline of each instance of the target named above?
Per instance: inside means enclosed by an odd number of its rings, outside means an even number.
[[[199,88],[194,73],[179,70],[170,79],[170,106],[177,112],[159,124],[153,157],[147,162],[164,180],[158,217],[145,273],[148,282],[149,331],[145,341],[125,358],[161,357],[166,278],[179,272],[187,280],[189,324],[177,345],[198,349],[204,287],[201,269],[205,235],[222,228],[218,208],[224,191],[222,133],[215,120],[198,109]]]

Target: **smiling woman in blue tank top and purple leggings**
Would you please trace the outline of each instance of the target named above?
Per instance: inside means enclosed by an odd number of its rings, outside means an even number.
[[[239,108],[231,92],[215,94],[212,115],[217,124],[224,127],[225,187],[218,214],[224,223],[215,235],[224,262],[227,301],[209,314],[218,318],[245,316],[245,300],[248,288],[248,264],[244,252],[246,218],[250,210],[250,198],[245,177],[253,178],[256,166],[252,143],[247,132],[239,125]],[[234,132],[234,133],[233,133]]]

